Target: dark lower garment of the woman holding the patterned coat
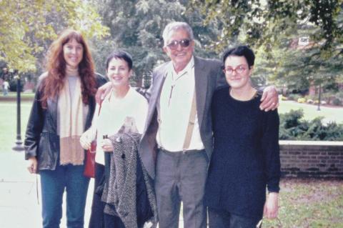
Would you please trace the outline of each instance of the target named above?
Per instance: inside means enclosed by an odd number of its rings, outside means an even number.
[[[91,219],[89,228],[125,228],[121,219],[116,216],[104,213],[105,203],[101,201],[101,194],[96,190],[104,183],[105,167],[102,164],[95,164],[94,193],[91,203]]]

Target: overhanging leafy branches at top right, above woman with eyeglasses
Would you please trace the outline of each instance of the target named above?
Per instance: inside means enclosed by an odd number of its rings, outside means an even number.
[[[342,0],[208,0],[190,1],[206,16],[205,23],[222,21],[222,34],[217,49],[232,43],[244,32],[244,43],[272,49],[289,31],[312,27],[311,36],[322,41],[321,48],[331,51],[334,42],[342,39],[342,25],[337,20]]]

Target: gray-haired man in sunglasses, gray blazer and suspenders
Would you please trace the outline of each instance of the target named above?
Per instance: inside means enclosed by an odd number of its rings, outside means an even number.
[[[154,179],[160,228],[207,227],[203,204],[207,165],[212,154],[210,102],[227,86],[221,62],[194,56],[194,36],[184,22],[163,32],[164,52],[172,61],[158,66],[149,89],[149,110],[139,154]],[[261,109],[278,105],[274,86],[264,89]]]

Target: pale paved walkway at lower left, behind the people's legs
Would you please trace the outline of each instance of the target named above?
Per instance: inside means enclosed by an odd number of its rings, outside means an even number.
[[[24,152],[0,152],[0,227],[39,228],[41,227],[41,205],[37,202],[36,180],[39,175],[29,174],[26,169]],[[40,184],[39,202],[41,202]],[[85,226],[88,227],[91,211],[91,193],[94,181],[89,183],[86,202]],[[61,228],[66,227],[65,203]],[[183,227],[180,219],[180,228]]]

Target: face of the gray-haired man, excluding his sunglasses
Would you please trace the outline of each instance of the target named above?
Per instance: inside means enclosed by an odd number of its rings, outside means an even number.
[[[194,51],[194,41],[189,42],[189,46],[182,47],[181,44],[177,44],[175,49],[171,49],[168,44],[172,41],[182,41],[185,39],[190,39],[189,34],[184,29],[177,29],[169,32],[168,39],[166,39],[166,46],[163,50],[166,54],[172,59],[174,68],[176,71],[181,71],[184,67],[187,66],[189,61],[192,59],[192,54]]]

